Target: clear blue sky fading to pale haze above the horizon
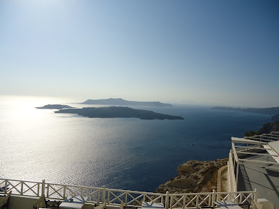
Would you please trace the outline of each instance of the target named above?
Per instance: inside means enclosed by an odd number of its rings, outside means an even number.
[[[279,107],[278,1],[0,1],[0,95]]]

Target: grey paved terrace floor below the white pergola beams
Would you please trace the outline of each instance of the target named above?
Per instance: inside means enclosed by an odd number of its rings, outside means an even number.
[[[253,160],[266,160],[266,157],[254,157]],[[275,162],[275,160],[271,160]],[[252,164],[239,167],[239,190],[257,189],[258,198],[264,198],[276,204],[279,209],[279,170],[266,169]],[[278,167],[277,167],[278,168]]]

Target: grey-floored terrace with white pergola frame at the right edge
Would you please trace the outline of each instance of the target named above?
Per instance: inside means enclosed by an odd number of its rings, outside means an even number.
[[[278,209],[278,153],[279,132],[245,138],[232,137],[232,150],[229,153],[230,191],[257,188],[259,198],[276,204]]]

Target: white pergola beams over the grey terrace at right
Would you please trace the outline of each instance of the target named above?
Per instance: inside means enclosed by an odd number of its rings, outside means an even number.
[[[253,137],[232,137],[232,160],[236,185],[239,179],[239,164],[252,164],[264,169],[279,171],[279,132]]]

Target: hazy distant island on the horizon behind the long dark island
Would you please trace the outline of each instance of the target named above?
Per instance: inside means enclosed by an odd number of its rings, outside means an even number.
[[[81,104],[107,104],[107,105],[141,105],[141,106],[151,106],[151,107],[172,107],[172,104],[165,104],[161,102],[136,102],[123,100],[121,98],[110,98],[104,100],[86,100]]]

